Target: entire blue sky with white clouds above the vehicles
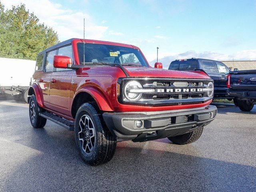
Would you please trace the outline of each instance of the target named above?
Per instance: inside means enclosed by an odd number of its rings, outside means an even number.
[[[151,66],[184,58],[256,60],[256,0],[0,0],[25,4],[60,41],[138,46]]]

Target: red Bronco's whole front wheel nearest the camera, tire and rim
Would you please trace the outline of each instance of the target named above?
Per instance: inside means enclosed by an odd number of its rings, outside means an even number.
[[[99,165],[112,159],[116,150],[116,139],[102,120],[96,103],[80,106],[75,118],[75,142],[84,162]]]

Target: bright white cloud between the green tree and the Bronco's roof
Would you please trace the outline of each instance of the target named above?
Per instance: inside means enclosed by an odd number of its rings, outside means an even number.
[[[90,15],[63,8],[62,4],[53,3],[49,0],[1,0],[1,2],[8,9],[12,8],[12,5],[25,4],[26,9],[34,12],[40,23],[46,24],[57,32],[60,41],[83,38],[84,18],[85,38],[102,39],[108,30],[107,26],[96,24]]]

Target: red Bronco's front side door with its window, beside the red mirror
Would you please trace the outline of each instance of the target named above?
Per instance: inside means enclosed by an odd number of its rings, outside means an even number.
[[[64,46],[57,50],[56,55],[64,55],[72,58],[72,46]],[[70,115],[70,85],[72,69],[54,68],[50,79],[50,104],[52,110],[65,115]]]

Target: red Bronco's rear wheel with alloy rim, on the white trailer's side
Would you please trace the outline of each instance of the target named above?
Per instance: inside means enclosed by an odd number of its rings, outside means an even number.
[[[33,110],[34,106],[34,110]],[[46,124],[46,118],[41,117],[39,113],[44,112],[45,110],[38,106],[36,101],[36,96],[32,95],[29,101],[29,117],[30,123],[34,128],[43,128]],[[34,118],[32,118],[32,113],[34,113]]]

